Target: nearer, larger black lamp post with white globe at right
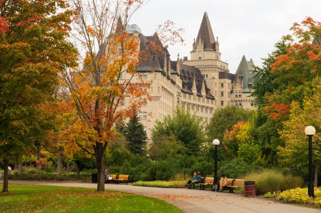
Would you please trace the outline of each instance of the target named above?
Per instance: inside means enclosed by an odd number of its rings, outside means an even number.
[[[308,195],[312,198],[315,197],[314,185],[312,181],[312,136],[316,134],[316,129],[313,126],[307,126],[304,130],[307,136],[309,136],[309,185]]]

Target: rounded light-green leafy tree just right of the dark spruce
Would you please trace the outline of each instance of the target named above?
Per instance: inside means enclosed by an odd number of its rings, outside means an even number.
[[[176,106],[173,117],[167,115],[163,122],[157,120],[151,131],[152,138],[162,135],[175,136],[183,143],[188,155],[196,155],[205,142],[203,128],[204,123],[201,119],[196,119],[195,114],[191,115],[189,110],[185,111],[183,107]]]

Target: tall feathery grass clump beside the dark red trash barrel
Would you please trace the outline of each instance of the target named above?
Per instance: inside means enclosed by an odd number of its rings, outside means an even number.
[[[255,181],[256,194],[284,191],[301,187],[303,179],[292,175],[283,175],[279,171],[264,169],[262,172],[250,173],[244,177],[245,180]]]

